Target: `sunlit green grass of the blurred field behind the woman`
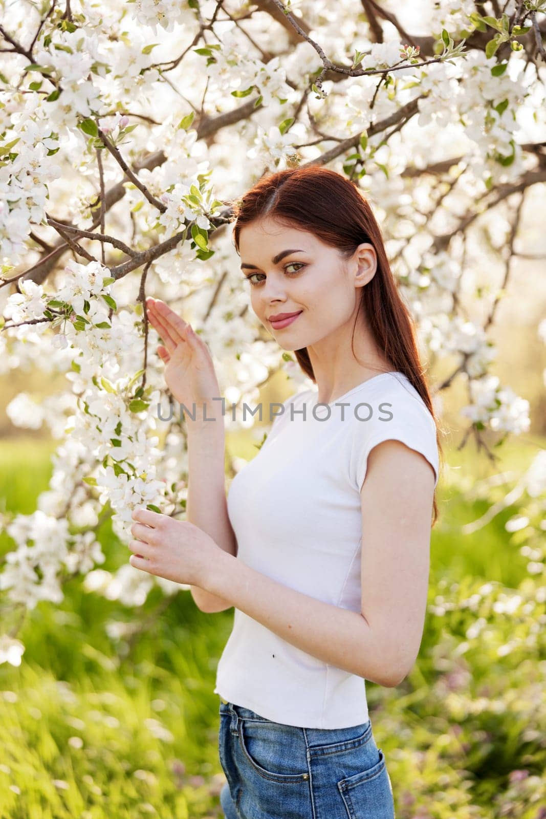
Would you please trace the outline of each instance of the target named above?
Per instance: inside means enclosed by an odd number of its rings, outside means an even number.
[[[525,438],[503,445],[500,468],[525,468],[546,443]],[[253,452],[237,437],[228,446],[243,457]],[[0,444],[0,512],[34,511],[47,488],[52,450],[37,440]],[[397,817],[539,819],[544,813],[533,794],[545,785],[546,747],[544,733],[534,737],[529,725],[532,715],[535,733],[544,728],[544,695],[535,688],[539,664],[526,663],[525,655],[503,664],[478,638],[464,656],[453,653],[469,623],[482,616],[462,601],[486,581],[517,589],[528,580],[527,561],[504,529],[514,509],[464,535],[463,525],[487,509],[485,500],[469,495],[491,469],[470,447],[446,449],[446,459],[429,602],[441,594],[457,605],[444,617],[427,613],[419,659],[401,686],[368,682],[374,733],[386,754]],[[109,524],[99,539],[106,554],[101,568],[115,571],[128,562],[129,551]],[[3,533],[0,554],[8,548]],[[185,590],[165,607],[159,589],[142,610],[127,609],[83,590],[81,578],[64,591],[62,604],[22,612],[22,664],[0,665],[0,819],[223,816],[213,689],[233,610],[201,613]],[[2,615],[7,602],[2,593]],[[142,630],[133,640],[108,636],[108,623],[134,620]],[[489,704],[499,697],[504,707],[495,712]],[[513,771],[522,769],[528,776],[520,782]],[[508,812],[511,800],[520,812]]]

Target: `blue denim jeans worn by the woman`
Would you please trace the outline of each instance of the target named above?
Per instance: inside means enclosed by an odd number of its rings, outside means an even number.
[[[225,819],[395,819],[372,723],[298,728],[220,702]]]

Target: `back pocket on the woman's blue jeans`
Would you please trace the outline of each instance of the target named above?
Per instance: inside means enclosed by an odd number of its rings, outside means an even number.
[[[390,777],[381,748],[377,749],[377,757],[372,767],[337,783],[348,819],[395,819]]]

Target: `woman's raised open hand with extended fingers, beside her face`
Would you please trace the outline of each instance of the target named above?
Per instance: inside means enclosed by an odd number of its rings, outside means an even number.
[[[148,297],[146,310],[148,321],[164,342],[157,347],[157,352],[165,363],[165,382],[174,398],[192,414],[195,404],[195,423],[204,423],[203,405],[206,419],[222,418],[222,401],[212,400],[222,396],[205,342],[165,301]],[[188,423],[194,423],[185,412],[184,415]]]

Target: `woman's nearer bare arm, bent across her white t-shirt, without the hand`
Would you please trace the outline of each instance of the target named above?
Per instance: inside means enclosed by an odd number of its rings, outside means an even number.
[[[231,554],[219,555],[204,586],[324,663],[397,686],[421,641],[434,480],[430,464],[403,443],[374,448],[360,493],[360,612],[283,586]]]

